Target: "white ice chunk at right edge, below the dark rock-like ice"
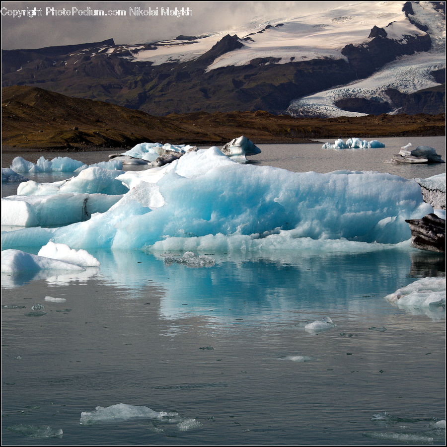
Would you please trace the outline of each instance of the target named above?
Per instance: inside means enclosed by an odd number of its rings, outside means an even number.
[[[384,297],[399,308],[446,308],[446,278],[423,278]]]

